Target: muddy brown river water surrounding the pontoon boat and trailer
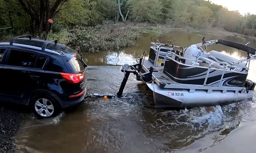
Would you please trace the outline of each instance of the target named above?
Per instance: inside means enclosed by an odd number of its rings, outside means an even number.
[[[137,39],[137,45],[118,52],[83,55],[89,65],[89,93],[117,93],[124,74],[120,65],[135,62],[149,51],[150,34]],[[189,46],[206,36],[206,40],[228,39],[240,43],[255,40],[174,31],[161,36]],[[236,49],[215,45],[210,49],[246,57]],[[248,79],[256,77],[251,62]],[[254,98],[255,99],[255,95]],[[32,117],[16,135],[16,152],[24,153],[168,153],[168,152],[254,152],[249,146],[256,138],[256,104],[254,101],[227,106],[182,110],[159,110],[146,85],[129,77],[123,98],[88,98],[79,107],[60,115],[39,120]],[[241,140],[241,142],[240,142]],[[234,145],[233,145],[234,144]],[[235,149],[234,149],[235,148]],[[218,150],[218,151],[217,151]]]

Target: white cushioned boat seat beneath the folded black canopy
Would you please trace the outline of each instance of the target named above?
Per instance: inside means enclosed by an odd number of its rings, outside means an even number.
[[[222,53],[220,53],[218,51],[215,51],[215,50],[210,51],[210,55],[209,55],[208,58],[210,58],[211,60],[214,60],[218,63],[224,64],[224,65],[232,65],[232,63],[234,61],[238,60],[236,58],[230,57],[226,54],[222,54]],[[246,64],[247,64],[247,62],[240,62],[239,64],[236,63],[236,64],[233,64],[233,65],[245,68]]]

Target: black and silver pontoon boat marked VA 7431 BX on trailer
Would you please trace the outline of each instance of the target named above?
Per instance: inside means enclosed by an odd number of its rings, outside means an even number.
[[[122,95],[133,73],[153,91],[155,107],[215,106],[252,100],[255,83],[246,78],[256,49],[248,44],[223,39],[205,42],[204,38],[185,49],[162,42],[151,44],[148,60],[144,57],[137,64],[121,66],[125,77],[117,95]],[[248,57],[238,60],[215,50],[208,52],[207,46],[214,44],[246,51]]]

